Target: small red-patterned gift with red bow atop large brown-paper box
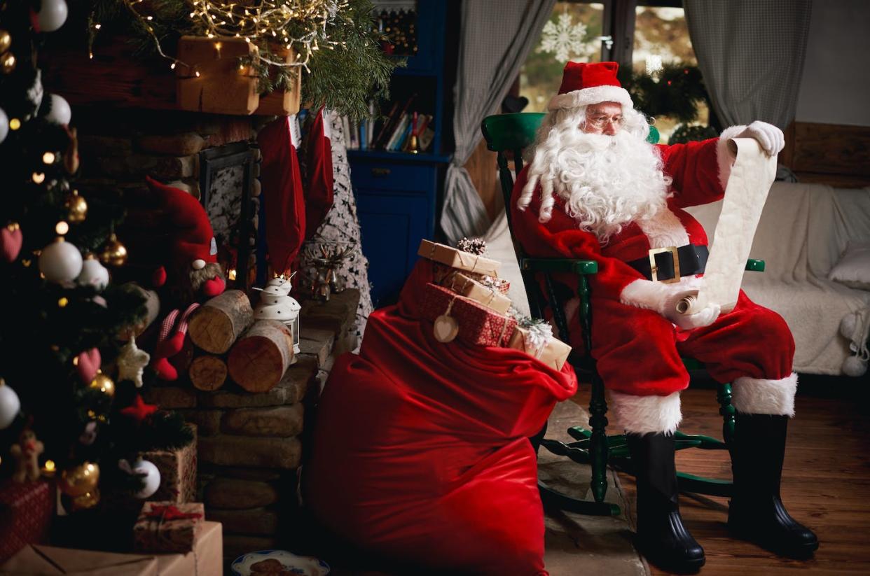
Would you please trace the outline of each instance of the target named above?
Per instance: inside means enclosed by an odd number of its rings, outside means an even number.
[[[133,526],[136,552],[165,553],[193,550],[205,518],[199,502],[145,502]]]

